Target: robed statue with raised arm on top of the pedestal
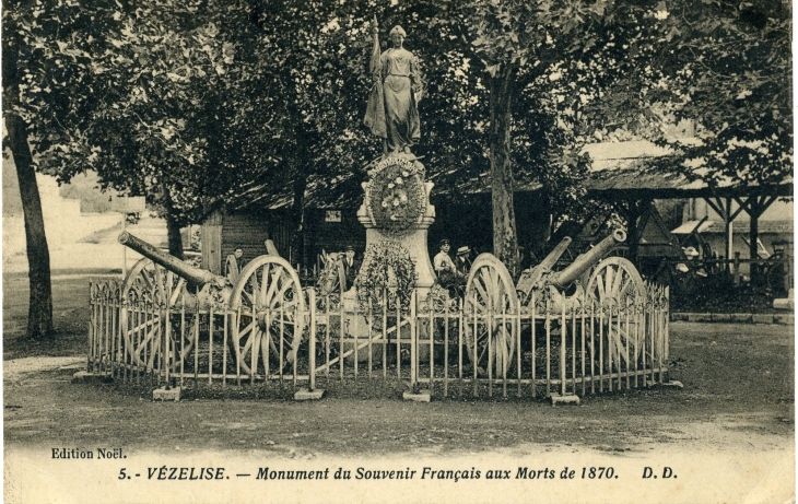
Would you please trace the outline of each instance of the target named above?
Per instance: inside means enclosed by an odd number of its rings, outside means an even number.
[[[421,138],[418,101],[422,81],[415,56],[402,47],[407,36],[401,26],[390,31],[392,47],[379,52],[377,20],[372,23],[374,49],[371,72],[374,86],[368,95],[364,124],[385,139],[386,153],[410,153]]]

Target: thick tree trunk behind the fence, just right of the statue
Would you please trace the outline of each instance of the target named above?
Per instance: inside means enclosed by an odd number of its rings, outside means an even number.
[[[518,234],[513,206],[511,159],[512,104],[515,71],[504,65],[491,79],[491,195],[493,202],[493,251],[515,278],[518,273]]]

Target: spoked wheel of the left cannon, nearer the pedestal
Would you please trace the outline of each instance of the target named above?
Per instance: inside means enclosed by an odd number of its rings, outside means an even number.
[[[300,278],[291,265],[277,256],[259,256],[240,272],[233,289],[230,307],[238,310],[237,328],[230,339],[233,352],[246,374],[251,363],[262,362],[268,368],[267,355],[280,358],[280,370],[293,363],[305,329],[305,296]],[[268,345],[268,347],[267,347]],[[268,350],[271,349],[271,352]]]

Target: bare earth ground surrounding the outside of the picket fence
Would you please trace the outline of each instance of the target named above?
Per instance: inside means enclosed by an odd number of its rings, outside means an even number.
[[[11,335],[5,332],[7,347],[19,348]],[[361,397],[331,392],[318,403],[295,403],[285,395],[256,398],[244,386],[239,400],[189,396],[178,405],[162,405],[150,400],[151,388],[72,384],[84,349],[80,336],[63,341],[75,344],[55,345],[50,353],[74,359],[44,358],[47,352],[34,345],[34,355],[7,361],[7,445],[105,443],[157,449],[169,439],[181,449],[243,445],[359,456],[416,449],[456,455],[542,443],[614,453],[695,443],[775,447],[791,444],[794,433],[794,342],[786,326],[673,324],[671,378],[683,390],[588,396],[580,407],[567,409],[468,396],[406,403],[398,392],[380,394],[378,386],[376,392],[361,388]],[[228,398],[235,397],[231,388]],[[159,419],[157,436],[145,427],[153,418]],[[521,424],[535,427],[519,429]],[[198,437],[198,432],[210,435]]]

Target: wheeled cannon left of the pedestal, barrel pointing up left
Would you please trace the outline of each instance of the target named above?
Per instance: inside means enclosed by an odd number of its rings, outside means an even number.
[[[119,243],[144,256],[122,283],[121,296],[126,306],[149,303],[189,313],[211,308],[218,314],[226,313],[227,341],[238,368],[246,374],[253,370],[269,370],[269,358],[277,358],[280,368],[295,361],[306,324],[306,303],[296,271],[277,254],[273,244],[267,242],[269,254],[249,261],[233,284],[224,277],[181,261],[130,233],[121,233]],[[122,316],[121,327],[126,328],[130,358],[137,364],[154,362],[157,350],[148,349],[165,330],[160,317],[146,320],[142,327],[128,323],[127,309],[122,310]],[[197,324],[197,319],[191,324]],[[175,363],[185,360],[193,349],[197,340],[193,329],[191,326],[188,331],[172,331],[173,339],[175,335],[183,339],[173,347],[183,349]]]

